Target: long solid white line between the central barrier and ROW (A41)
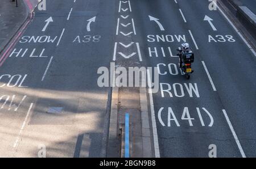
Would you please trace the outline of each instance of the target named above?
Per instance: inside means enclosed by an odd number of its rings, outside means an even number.
[[[148,69],[147,69],[147,82],[148,82],[148,94],[150,96],[150,108],[151,108],[152,130],[153,130],[153,137],[154,137],[155,157],[160,158],[158,131],[156,129],[155,109],[154,109],[154,102],[153,102],[152,88],[151,88],[152,84],[151,84],[151,78],[150,78],[150,71]]]

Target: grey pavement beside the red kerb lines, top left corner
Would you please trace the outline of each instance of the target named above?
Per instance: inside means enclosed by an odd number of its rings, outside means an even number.
[[[16,2],[11,0],[2,1],[0,6],[0,52],[5,48],[16,31],[27,19],[26,5],[19,1],[18,7]]]

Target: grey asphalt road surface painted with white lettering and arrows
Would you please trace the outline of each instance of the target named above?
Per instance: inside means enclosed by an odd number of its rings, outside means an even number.
[[[0,156],[37,157],[45,146],[47,157],[104,157],[110,88],[98,87],[97,70],[116,61],[158,67],[148,107],[160,157],[213,148],[256,157],[255,53],[209,3],[56,0],[36,9],[0,68]],[[176,57],[184,42],[195,53],[189,80]]]

